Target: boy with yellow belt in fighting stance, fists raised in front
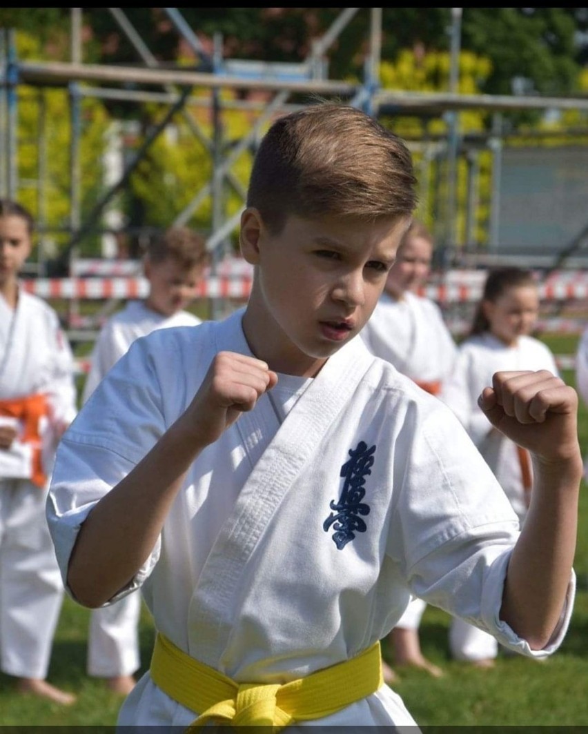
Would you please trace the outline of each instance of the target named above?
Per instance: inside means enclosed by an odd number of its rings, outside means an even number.
[[[352,106],[279,117],[253,164],[247,305],[137,339],[62,438],[47,504],[68,589],[141,587],[158,630],[120,725],[413,725],[380,639],[411,595],[524,655],[573,608],[573,388],[484,388],[534,452],[523,531],[451,410],[357,338],[415,208],[401,139]]]

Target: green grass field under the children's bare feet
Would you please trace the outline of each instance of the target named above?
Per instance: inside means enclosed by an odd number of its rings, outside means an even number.
[[[574,336],[545,336],[554,352],[573,354]],[[573,385],[573,373],[564,379]],[[588,453],[588,410],[580,406],[578,435]],[[578,593],[570,630],[560,650],[540,663],[499,655],[496,667],[473,669],[452,661],[449,616],[427,607],[421,623],[425,655],[443,668],[439,679],[418,670],[400,673],[396,691],[421,726],[585,726],[588,724],[588,494],[582,487],[575,568]],[[90,612],[65,598],[54,642],[48,680],[78,695],[68,708],[15,693],[12,679],[0,674],[0,726],[101,726],[115,724],[121,697],[86,675]],[[148,668],[153,625],[146,608],[140,624],[142,668]],[[388,643],[382,641],[388,657]]]

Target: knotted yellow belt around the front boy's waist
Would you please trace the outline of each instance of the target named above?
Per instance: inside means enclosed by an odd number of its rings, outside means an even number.
[[[382,686],[380,642],[357,657],[283,686],[235,683],[198,662],[157,634],[151,679],[164,693],[200,716],[190,728],[206,722],[237,726],[271,726],[274,732],[295,721],[322,719]]]

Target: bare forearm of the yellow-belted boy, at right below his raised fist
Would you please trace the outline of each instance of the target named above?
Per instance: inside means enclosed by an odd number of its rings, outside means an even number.
[[[579,457],[546,467],[534,460],[531,506],[512,551],[501,619],[533,650],[551,639],[562,614],[576,551]]]

